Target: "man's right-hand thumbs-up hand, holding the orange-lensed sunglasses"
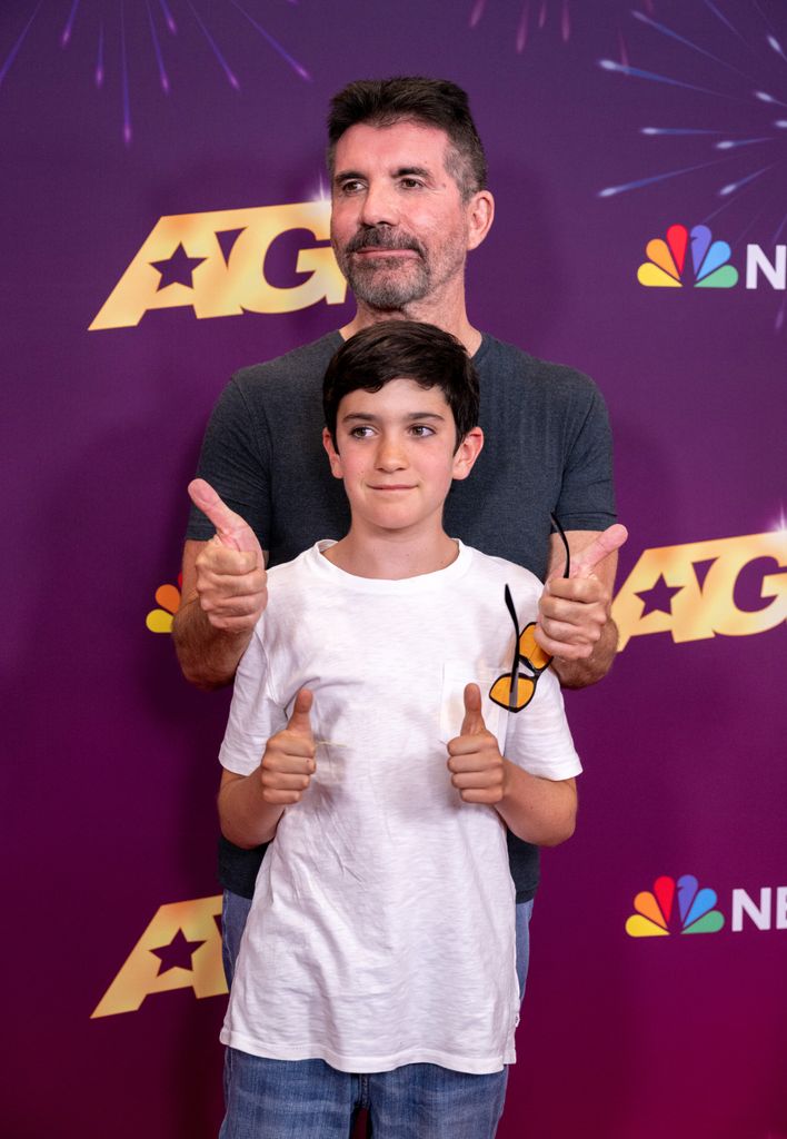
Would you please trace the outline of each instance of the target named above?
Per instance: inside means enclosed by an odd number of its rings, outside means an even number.
[[[609,621],[615,555],[628,536],[625,526],[609,526],[572,556],[569,577],[563,577],[558,567],[547,579],[539,601],[535,639],[556,658],[554,666],[564,683],[575,687],[592,683],[612,664],[617,639]],[[605,572],[597,573],[602,563]],[[582,662],[588,662],[593,653],[599,656],[597,666],[585,670],[588,675],[581,678]],[[577,662],[579,667],[572,670],[572,662]]]

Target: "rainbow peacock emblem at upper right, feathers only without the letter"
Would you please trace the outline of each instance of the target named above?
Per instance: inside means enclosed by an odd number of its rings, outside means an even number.
[[[728,264],[732,251],[727,241],[714,241],[707,226],[694,226],[691,231],[670,226],[666,240],[654,237],[645,252],[648,260],[637,270],[637,280],[649,288],[732,288],[738,284],[738,270]]]

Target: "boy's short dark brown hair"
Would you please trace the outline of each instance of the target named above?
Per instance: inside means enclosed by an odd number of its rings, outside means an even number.
[[[392,379],[441,388],[453,412],[457,446],[477,425],[478,376],[461,342],[434,325],[383,320],[345,341],[326,370],[322,408],[334,446],[343,398],[359,388],[379,392]]]

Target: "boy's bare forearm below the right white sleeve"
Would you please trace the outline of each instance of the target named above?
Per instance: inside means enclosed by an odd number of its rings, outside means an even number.
[[[576,780],[543,779],[503,760],[503,795],[495,809],[510,831],[535,846],[557,846],[576,823]]]

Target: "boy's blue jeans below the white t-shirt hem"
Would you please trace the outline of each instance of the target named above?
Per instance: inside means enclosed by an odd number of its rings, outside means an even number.
[[[232,1052],[219,1139],[349,1139],[364,1107],[375,1139],[493,1139],[508,1068],[490,1075],[405,1064],[351,1075],[323,1060]]]

